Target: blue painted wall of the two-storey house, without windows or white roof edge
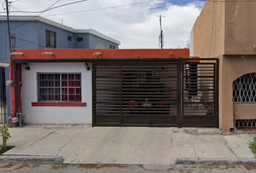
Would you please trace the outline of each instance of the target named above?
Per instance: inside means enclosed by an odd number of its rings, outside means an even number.
[[[19,27],[20,26],[20,27]],[[56,32],[56,48],[90,48],[94,49],[99,43],[119,48],[119,45],[101,37],[88,33],[74,33],[59,27],[54,27],[39,21],[11,21],[11,34],[16,35],[17,49],[42,49],[46,48],[46,30]],[[17,28],[15,28],[17,27]],[[13,28],[13,29],[12,29]],[[70,36],[72,42],[67,39]],[[77,42],[77,37],[83,37],[83,42]],[[9,37],[7,21],[0,21],[0,62],[9,63]]]

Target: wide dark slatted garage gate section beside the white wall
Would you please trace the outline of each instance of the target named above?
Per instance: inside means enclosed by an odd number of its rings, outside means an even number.
[[[93,63],[93,125],[177,126],[178,66]]]

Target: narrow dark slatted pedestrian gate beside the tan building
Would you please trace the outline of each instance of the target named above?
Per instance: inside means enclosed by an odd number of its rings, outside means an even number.
[[[182,63],[182,127],[218,127],[216,61]]]

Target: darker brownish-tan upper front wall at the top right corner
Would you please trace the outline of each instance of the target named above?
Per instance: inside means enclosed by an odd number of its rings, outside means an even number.
[[[244,0],[245,1],[245,0]],[[226,3],[225,53],[253,55],[256,51],[256,1]]]

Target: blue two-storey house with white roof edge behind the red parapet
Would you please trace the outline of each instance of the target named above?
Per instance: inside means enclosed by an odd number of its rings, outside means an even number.
[[[103,35],[93,29],[75,30],[43,17],[10,16],[12,34],[12,49],[118,49],[120,42]],[[7,17],[0,16],[0,63],[9,63],[9,35]],[[4,73],[4,66],[0,64],[0,72]],[[6,68],[5,71],[9,71]],[[9,79],[9,73],[6,73]],[[2,80],[4,78],[1,78]],[[2,81],[2,83],[5,83]],[[7,107],[9,108],[9,87],[7,87]],[[8,115],[11,112],[8,111]]]

